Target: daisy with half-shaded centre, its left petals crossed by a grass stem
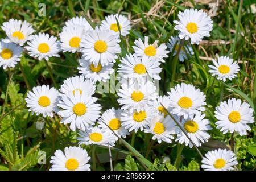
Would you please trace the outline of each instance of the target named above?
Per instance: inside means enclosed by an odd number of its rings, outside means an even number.
[[[208,142],[210,138],[207,131],[212,128],[210,127],[210,121],[204,117],[205,114],[197,114],[193,117],[188,117],[188,119],[182,119],[181,121],[181,125],[183,125],[185,131],[187,131],[188,137],[192,139],[197,147],[201,146],[201,143]],[[185,143],[186,146],[189,144],[190,148],[193,147],[193,144],[180,128],[177,130],[177,138],[175,141],[181,144]]]

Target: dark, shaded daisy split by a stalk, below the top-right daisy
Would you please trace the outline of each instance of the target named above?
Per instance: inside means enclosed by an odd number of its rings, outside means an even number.
[[[175,46],[176,44],[176,46]],[[172,52],[172,49],[174,49],[174,54],[173,56],[176,55],[177,50],[179,49],[179,44],[180,44],[180,39],[175,36],[171,36],[171,38],[169,39],[169,42],[167,43],[167,47],[170,49],[170,52]],[[174,47],[175,46],[175,47]],[[180,49],[180,53],[179,53],[179,60],[180,62],[184,62],[185,59],[188,59],[188,57],[191,55],[194,55],[193,49],[191,46],[183,46]]]

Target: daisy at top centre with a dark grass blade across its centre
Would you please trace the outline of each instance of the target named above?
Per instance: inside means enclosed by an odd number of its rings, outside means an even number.
[[[108,30],[114,31],[115,34],[119,35],[117,20],[115,18],[118,20],[121,35],[126,36],[129,34],[129,30],[131,29],[131,22],[123,15],[115,14],[106,16],[105,20],[101,22],[101,26]]]

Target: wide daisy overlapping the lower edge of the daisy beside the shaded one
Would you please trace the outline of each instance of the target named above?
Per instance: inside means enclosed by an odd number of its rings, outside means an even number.
[[[149,75],[156,80],[161,80],[158,74],[162,68],[159,65],[159,62],[150,61],[146,56],[140,58],[129,54],[121,60],[121,64],[118,64],[117,72],[121,73],[124,78],[139,78]]]

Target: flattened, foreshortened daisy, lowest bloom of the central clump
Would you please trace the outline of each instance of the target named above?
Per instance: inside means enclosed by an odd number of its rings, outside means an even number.
[[[85,131],[79,132],[80,137],[79,144],[97,144],[99,146],[110,146],[113,147],[115,145],[115,136],[111,132],[111,130],[103,130],[100,127],[90,127]]]

